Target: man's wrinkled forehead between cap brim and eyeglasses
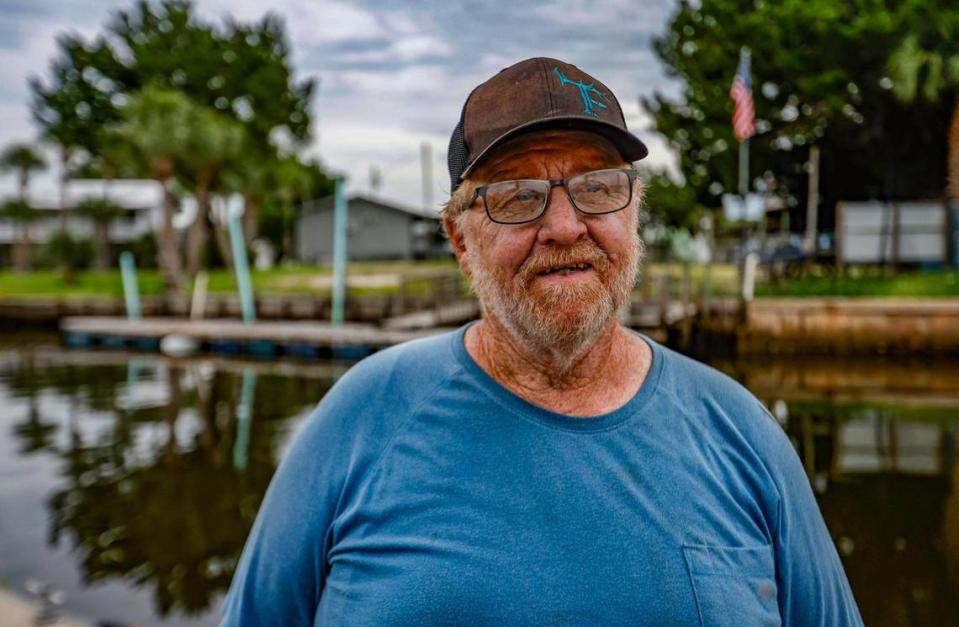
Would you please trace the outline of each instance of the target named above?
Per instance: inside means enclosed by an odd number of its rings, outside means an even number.
[[[489,182],[550,164],[578,169],[617,167],[623,157],[612,142],[584,131],[537,131],[505,142],[480,162],[467,180]]]

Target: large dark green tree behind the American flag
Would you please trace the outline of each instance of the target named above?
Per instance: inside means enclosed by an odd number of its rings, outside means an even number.
[[[930,2],[934,0],[929,0]],[[945,10],[944,0],[939,0]],[[891,92],[886,64],[907,26],[881,0],[702,0],[681,2],[655,42],[679,97],[657,93],[643,106],[677,151],[696,204],[718,207],[737,189],[738,151],[729,86],[739,48],[752,50],[757,134],[751,179],[775,184],[802,224],[808,148],[822,154],[820,224],[837,200],[935,196],[941,170],[929,156],[947,123],[942,107],[906,107]],[[924,125],[916,133],[913,125]],[[939,177],[939,178],[937,178]],[[650,202],[650,211],[657,207]],[[686,215],[664,215],[682,224]]]

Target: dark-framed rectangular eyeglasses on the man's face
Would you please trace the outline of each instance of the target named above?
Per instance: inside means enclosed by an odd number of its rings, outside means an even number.
[[[602,215],[622,211],[633,200],[636,171],[622,168],[594,170],[566,179],[520,179],[481,185],[468,206],[483,199],[486,215],[498,224],[524,224],[538,220],[549,205],[554,187],[565,187],[573,206],[582,213]]]

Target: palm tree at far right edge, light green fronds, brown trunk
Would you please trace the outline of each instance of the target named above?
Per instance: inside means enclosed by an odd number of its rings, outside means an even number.
[[[894,81],[893,92],[903,102],[914,102],[920,96],[936,102],[947,93],[953,94],[946,193],[956,206],[959,203],[959,25],[954,33],[942,32],[950,30],[951,23],[924,20],[921,26],[931,27],[932,36],[921,42],[916,34],[906,37],[890,57],[889,70]]]

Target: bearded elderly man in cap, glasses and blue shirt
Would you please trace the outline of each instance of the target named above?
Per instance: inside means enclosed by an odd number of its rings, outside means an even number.
[[[267,493],[225,625],[858,625],[789,441],[623,328],[646,148],[529,59],[477,87],[444,221],[482,320],[358,364]]]

